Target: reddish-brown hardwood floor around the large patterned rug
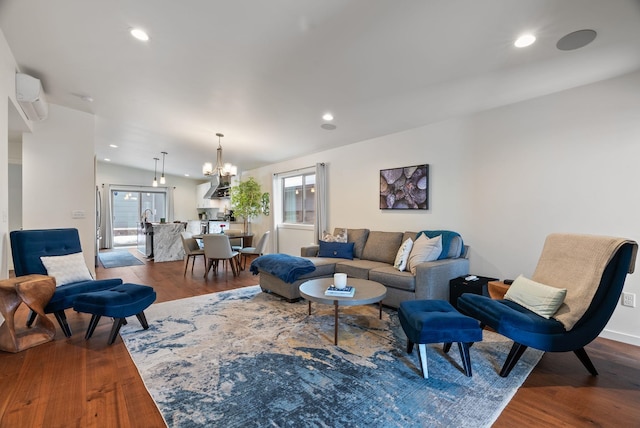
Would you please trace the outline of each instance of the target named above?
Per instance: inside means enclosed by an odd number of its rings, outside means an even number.
[[[193,275],[183,277],[183,268],[182,262],[145,261],[98,268],[97,275],[152,285],[156,302],[258,282],[247,271],[239,278],[231,271],[210,273],[205,280],[201,259]],[[67,312],[71,338],[58,327],[53,342],[18,354],[0,352],[0,427],[164,426],[122,340],[107,346],[111,320],[102,319],[85,341],[90,317]],[[18,317],[23,323],[26,310]],[[572,353],[546,354],[494,426],[640,426],[640,347],[596,339],[587,352],[600,376],[590,376]]]

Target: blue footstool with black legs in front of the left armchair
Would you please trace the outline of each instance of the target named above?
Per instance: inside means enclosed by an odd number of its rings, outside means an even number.
[[[155,300],[156,292],[147,285],[121,284],[109,290],[79,294],[73,302],[73,309],[93,315],[84,336],[85,339],[93,335],[100,317],[114,318],[109,335],[109,345],[111,345],[116,340],[120,327],[126,324],[126,317],[135,315],[142,328],[145,330],[149,328],[144,310]]]

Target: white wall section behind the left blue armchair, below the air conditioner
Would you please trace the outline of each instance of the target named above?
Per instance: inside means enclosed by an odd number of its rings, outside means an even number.
[[[22,136],[24,229],[74,227],[87,266],[95,257],[94,116],[49,105],[49,116]],[[72,218],[72,212],[84,218]]]

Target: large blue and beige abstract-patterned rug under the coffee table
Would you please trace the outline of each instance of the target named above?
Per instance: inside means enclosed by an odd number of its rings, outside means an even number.
[[[511,342],[485,332],[471,348],[473,377],[454,345],[406,353],[396,311],[286,303],[258,286],[154,304],[121,336],[171,427],[490,426],[542,352],[498,375]]]

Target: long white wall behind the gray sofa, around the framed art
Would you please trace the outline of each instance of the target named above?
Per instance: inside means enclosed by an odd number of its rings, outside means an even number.
[[[633,73],[248,174],[271,189],[272,174],[325,162],[330,230],[451,229],[471,246],[471,273],[530,276],[551,232],[640,241],[638,88]],[[429,210],[378,209],[379,170],[419,163]],[[638,271],[625,291],[640,295]],[[618,306],[603,335],[640,345],[639,311]]]

